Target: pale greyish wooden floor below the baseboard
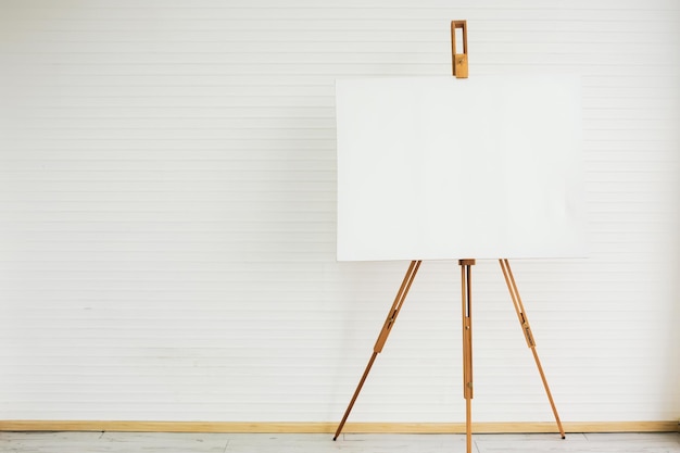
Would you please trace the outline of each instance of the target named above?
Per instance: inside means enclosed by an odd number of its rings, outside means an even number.
[[[680,433],[476,435],[476,453],[680,453]],[[0,432],[3,453],[457,453],[462,435]]]

